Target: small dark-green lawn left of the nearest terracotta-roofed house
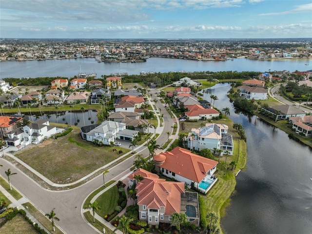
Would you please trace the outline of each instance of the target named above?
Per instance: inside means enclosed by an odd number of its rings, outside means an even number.
[[[119,195],[117,186],[113,186],[111,189],[101,194],[96,200],[98,202],[98,206],[101,207],[101,209],[97,211],[98,215],[104,218],[104,215],[113,213],[117,206],[118,198]]]

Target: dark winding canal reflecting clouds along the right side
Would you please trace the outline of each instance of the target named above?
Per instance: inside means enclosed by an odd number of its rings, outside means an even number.
[[[230,108],[247,136],[248,160],[238,176],[221,226],[228,234],[312,233],[312,149],[256,116],[236,111],[226,97],[229,84],[217,84],[218,109]]]

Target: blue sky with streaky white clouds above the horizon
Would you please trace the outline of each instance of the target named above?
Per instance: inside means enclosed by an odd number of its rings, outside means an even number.
[[[1,38],[312,38],[312,0],[0,0]]]

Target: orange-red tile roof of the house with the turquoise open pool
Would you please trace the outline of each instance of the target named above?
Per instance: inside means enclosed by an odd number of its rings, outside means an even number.
[[[215,160],[204,158],[191,152],[191,150],[176,147],[170,152],[161,152],[166,156],[161,168],[199,183],[206,173],[218,164]]]

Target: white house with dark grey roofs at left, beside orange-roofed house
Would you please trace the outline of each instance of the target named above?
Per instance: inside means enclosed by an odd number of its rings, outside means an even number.
[[[5,138],[5,141],[10,146],[27,146],[31,143],[39,144],[45,138],[49,138],[56,133],[57,128],[50,126],[49,121],[37,120],[29,125],[8,132],[8,137]]]

